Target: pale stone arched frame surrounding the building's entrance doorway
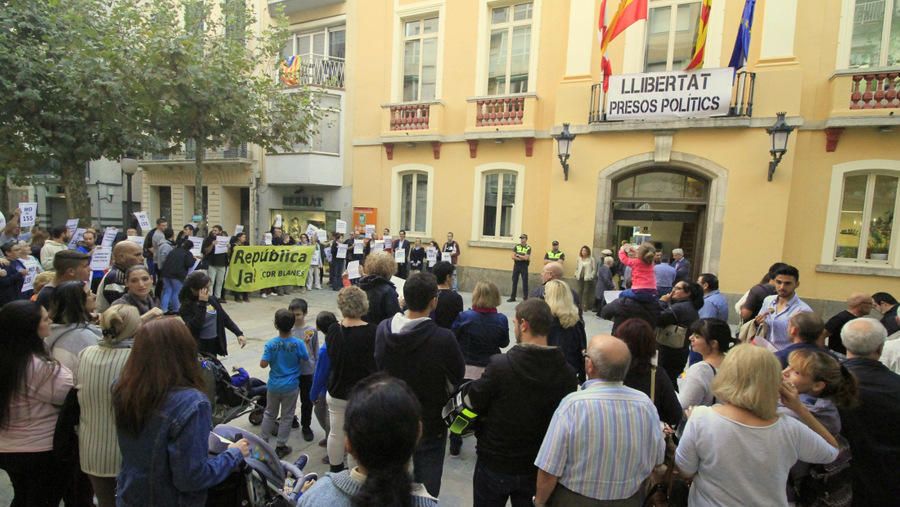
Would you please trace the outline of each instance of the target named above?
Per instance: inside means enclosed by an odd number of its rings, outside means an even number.
[[[702,233],[703,262],[701,272],[718,273],[722,254],[722,234],[725,222],[725,197],[728,189],[728,170],[711,160],[673,151],[668,160],[659,160],[654,152],[623,158],[602,169],[597,181],[597,212],[594,220],[594,249],[610,248],[610,217],[612,216],[613,181],[631,173],[655,167],[676,167],[709,182],[707,191],[706,226]]]

